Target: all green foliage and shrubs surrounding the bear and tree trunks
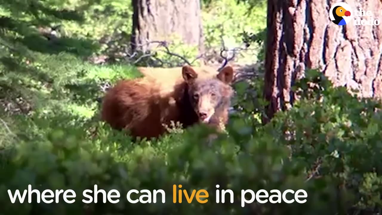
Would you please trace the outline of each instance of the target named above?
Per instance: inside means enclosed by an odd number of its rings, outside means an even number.
[[[220,36],[229,46],[256,41],[252,60],[262,60],[265,14],[264,1],[204,2],[207,46],[219,46]],[[108,48],[102,37],[128,35],[130,18],[131,6],[120,0],[0,3],[0,214],[380,213],[380,104],[333,88],[315,71],[295,86],[301,100],[267,125],[259,121],[262,79],[235,86],[240,109],[212,146],[212,131],[201,125],[133,143],[100,122],[100,86],[140,74],[133,65],[86,59]],[[45,24],[58,26],[61,37],[42,37],[36,26]],[[73,189],[76,202],[11,204],[7,190],[28,184]],[[82,204],[82,191],[94,184],[117,189],[121,201]],[[207,189],[209,201],[173,204],[173,184]],[[216,204],[216,184],[233,190],[235,202]],[[164,189],[166,203],[128,203],[130,189]],[[308,201],[241,207],[241,189],[305,189]]]

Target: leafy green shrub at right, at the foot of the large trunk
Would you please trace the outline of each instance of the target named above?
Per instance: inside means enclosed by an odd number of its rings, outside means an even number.
[[[359,99],[345,87],[334,88],[315,70],[297,88],[301,100],[273,121],[274,140],[291,146],[309,176],[330,178],[340,207],[379,211],[381,104]]]

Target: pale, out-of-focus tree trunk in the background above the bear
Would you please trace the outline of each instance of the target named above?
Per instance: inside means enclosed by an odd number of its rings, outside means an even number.
[[[203,51],[199,0],[133,0],[132,3],[133,49],[150,41],[171,42],[175,35],[185,44],[198,46],[199,52]],[[147,44],[141,49],[145,51],[150,48]]]

